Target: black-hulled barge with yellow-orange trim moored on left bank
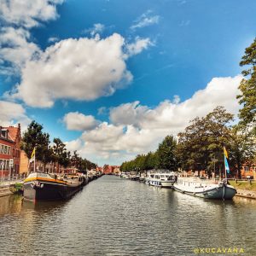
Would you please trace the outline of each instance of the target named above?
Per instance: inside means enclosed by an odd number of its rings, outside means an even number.
[[[66,200],[84,185],[84,178],[59,179],[45,172],[32,172],[23,184],[23,196],[27,201]]]

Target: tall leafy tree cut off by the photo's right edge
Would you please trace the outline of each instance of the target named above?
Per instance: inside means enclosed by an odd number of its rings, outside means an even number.
[[[250,126],[256,135],[256,38],[249,47],[245,49],[240,66],[249,66],[242,71],[247,79],[242,79],[239,89],[241,95],[237,96],[242,108],[239,111],[240,125]]]

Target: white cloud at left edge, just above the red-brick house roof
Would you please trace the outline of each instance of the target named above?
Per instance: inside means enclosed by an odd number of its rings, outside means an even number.
[[[25,129],[30,122],[31,119],[26,116],[26,110],[20,104],[0,101],[0,125],[8,126],[20,123],[21,128]]]

